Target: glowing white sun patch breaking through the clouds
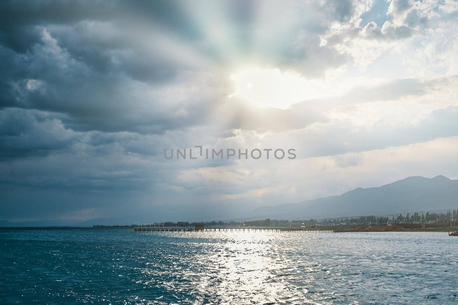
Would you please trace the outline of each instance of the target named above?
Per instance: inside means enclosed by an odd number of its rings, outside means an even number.
[[[316,84],[299,74],[280,69],[246,68],[230,76],[238,97],[256,107],[287,109],[294,103],[316,97]]]

